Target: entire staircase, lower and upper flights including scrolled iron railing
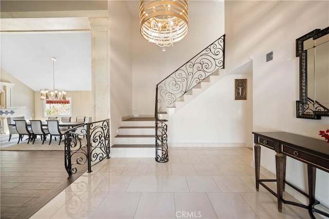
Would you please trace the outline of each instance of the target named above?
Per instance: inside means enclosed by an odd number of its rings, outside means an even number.
[[[169,160],[168,117],[226,75],[224,43],[225,34],[156,85],[155,118],[134,117],[122,121],[114,138],[112,157]]]

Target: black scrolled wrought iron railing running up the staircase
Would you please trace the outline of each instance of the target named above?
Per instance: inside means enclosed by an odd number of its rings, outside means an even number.
[[[208,78],[217,69],[224,68],[225,34],[156,85],[155,93],[155,160],[167,162],[167,124],[160,119],[167,107]],[[160,135],[158,135],[160,132]]]

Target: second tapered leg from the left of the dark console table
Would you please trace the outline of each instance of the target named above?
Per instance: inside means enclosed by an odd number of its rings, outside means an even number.
[[[285,173],[285,159],[286,157],[281,154],[276,154],[276,169],[277,169],[277,194],[278,194],[278,211],[282,212],[282,195]]]

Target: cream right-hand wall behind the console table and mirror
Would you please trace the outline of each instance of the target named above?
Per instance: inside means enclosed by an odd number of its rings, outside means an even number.
[[[253,59],[253,131],[284,131],[321,139],[321,120],[296,118],[299,60],[295,40],[329,26],[328,1],[227,1],[225,3],[226,69]],[[274,59],[261,64],[273,50]],[[251,135],[251,133],[250,133]],[[262,148],[261,165],[275,173],[275,153]],[[306,190],[306,165],[287,159],[287,180]],[[329,174],[317,171],[316,198],[329,206]]]

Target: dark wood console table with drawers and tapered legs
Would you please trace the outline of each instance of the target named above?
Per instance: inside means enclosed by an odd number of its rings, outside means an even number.
[[[295,205],[308,209],[309,216],[315,218],[313,212],[329,217],[326,212],[315,209],[319,204],[315,199],[316,168],[329,173],[329,144],[320,139],[309,138],[286,132],[253,132],[254,134],[254,156],[255,156],[255,179],[256,190],[262,185],[270,193],[278,198],[278,210],[282,211],[282,203]],[[275,151],[276,154],[276,179],[260,179],[261,145]],[[285,180],[286,156],[297,159],[307,164],[308,194]],[[277,191],[271,190],[264,182],[276,181]],[[309,199],[308,205],[284,200],[282,197],[285,184],[296,189]]]

